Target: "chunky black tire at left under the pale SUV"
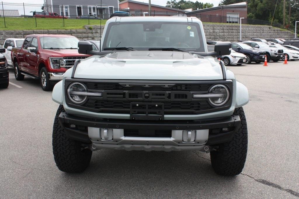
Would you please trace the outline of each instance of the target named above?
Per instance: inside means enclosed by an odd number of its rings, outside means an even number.
[[[68,173],[83,172],[91,159],[92,151],[85,149],[81,142],[69,139],[58,121],[58,116],[64,111],[62,105],[57,109],[53,125],[53,154],[56,166],[60,171]]]

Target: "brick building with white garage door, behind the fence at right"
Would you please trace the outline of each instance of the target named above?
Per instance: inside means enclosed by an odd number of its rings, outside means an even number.
[[[239,18],[247,18],[247,3],[222,5],[186,12],[187,16],[196,16],[202,22],[239,23]]]

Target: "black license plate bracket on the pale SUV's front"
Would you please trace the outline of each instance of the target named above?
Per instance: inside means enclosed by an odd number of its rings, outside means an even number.
[[[164,103],[130,103],[131,120],[164,120]]]

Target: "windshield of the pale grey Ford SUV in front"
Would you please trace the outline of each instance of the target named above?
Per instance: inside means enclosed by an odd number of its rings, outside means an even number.
[[[187,22],[121,22],[110,23],[103,49],[129,47],[135,50],[149,48],[180,48],[204,52],[203,35],[196,23]]]

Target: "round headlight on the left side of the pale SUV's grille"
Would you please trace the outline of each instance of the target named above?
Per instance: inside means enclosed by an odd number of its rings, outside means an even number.
[[[71,100],[74,104],[82,104],[87,96],[86,95],[80,95],[80,92],[86,92],[87,88],[85,85],[79,83],[79,82],[74,82],[71,83],[68,86],[68,99]]]

